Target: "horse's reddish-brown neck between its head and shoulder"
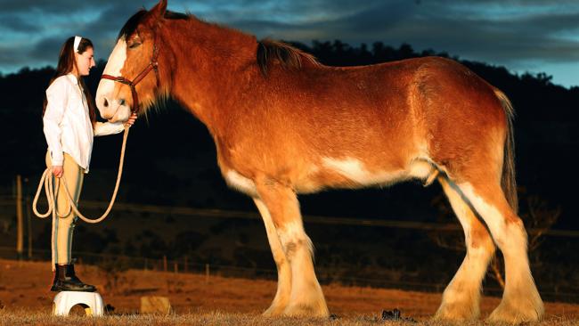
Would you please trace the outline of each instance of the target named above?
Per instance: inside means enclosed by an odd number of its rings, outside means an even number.
[[[175,24],[167,32],[175,60],[171,95],[218,133],[219,117],[232,110],[236,90],[258,71],[255,37],[200,20]]]

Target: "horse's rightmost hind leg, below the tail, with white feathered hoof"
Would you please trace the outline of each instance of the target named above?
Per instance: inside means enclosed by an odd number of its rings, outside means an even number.
[[[532,322],[542,318],[544,307],[534,285],[526,250],[523,221],[510,208],[500,182],[492,178],[459,183],[459,188],[485,220],[505,261],[505,289],[491,322]]]

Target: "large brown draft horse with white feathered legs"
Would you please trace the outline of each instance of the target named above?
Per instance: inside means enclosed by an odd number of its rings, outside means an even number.
[[[329,314],[298,193],[436,178],[467,255],[435,317],[478,317],[496,244],[506,287],[489,319],[541,319],[517,215],[512,108],[457,62],[327,67],[290,45],[167,12],[161,0],[127,20],[104,73],[96,96],[103,118],[123,121],[170,96],[208,127],[224,178],[255,201],[265,223],[278,268],[265,315]]]

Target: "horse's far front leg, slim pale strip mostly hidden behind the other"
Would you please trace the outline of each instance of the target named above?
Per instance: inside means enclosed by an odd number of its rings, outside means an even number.
[[[285,307],[288,306],[288,302],[290,302],[290,263],[281,247],[280,237],[275,231],[275,225],[273,225],[272,216],[269,214],[269,210],[267,210],[262,200],[257,198],[254,198],[253,200],[256,203],[259,214],[261,214],[261,218],[264,220],[267,240],[269,241],[269,247],[272,249],[273,260],[277,266],[277,292],[275,292],[272,305],[265,310],[264,315],[276,316],[282,314]]]

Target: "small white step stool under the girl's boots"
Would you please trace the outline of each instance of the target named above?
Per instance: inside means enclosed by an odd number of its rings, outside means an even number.
[[[85,308],[87,316],[104,315],[102,297],[97,292],[61,291],[54,297],[53,314],[68,316],[73,306],[80,305]]]

